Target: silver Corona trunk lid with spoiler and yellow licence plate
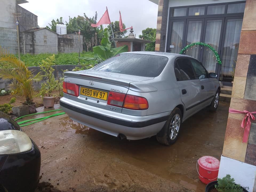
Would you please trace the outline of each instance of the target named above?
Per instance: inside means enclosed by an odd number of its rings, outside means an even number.
[[[100,107],[115,112],[122,112],[122,107],[107,105],[107,97],[110,91],[126,94],[130,83],[142,82],[154,77],[141,77],[112,73],[107,71],[83,70],[65,72],[65,82],[79,85],[79,96],[67,95],[69,99]]]

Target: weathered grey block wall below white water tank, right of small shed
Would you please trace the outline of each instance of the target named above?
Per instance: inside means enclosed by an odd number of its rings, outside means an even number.
[[[83,51],[83,35],[80,35],[80,41],[77,34],[58,35],[58,52],[74,53]]]

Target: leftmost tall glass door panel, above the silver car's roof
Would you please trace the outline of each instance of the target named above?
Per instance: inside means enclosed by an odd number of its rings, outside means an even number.
[[[185,21],[175,21],[172,23],[170,53],[179,53],[182,50],[183,33]]]

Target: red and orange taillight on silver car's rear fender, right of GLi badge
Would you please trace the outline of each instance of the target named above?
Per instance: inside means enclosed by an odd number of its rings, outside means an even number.
[[[125,101],[123,103],[123,108],[133,110],[145,110],[149,108],[149,103],[144,97],[126,95]]]

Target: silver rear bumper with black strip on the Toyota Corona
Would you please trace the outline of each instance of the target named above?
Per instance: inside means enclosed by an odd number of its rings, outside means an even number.
[[[61,108],[71,119],[103,133],[137,140],[156,135],[167,121],[171,111],[133,116],[86,105],[67,98],[60,99]]]

